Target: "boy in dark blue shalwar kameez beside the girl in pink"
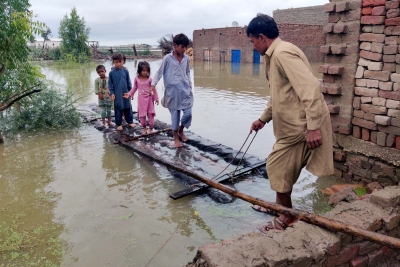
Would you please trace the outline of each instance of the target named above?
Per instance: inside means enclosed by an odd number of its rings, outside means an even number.
[[[133,124],[131,100],[124,98],[124,94],[128,93],[132,88],[129,72],[123,68],[123,56],[114,54],[112,61],[115,69],[110,72],[108,77],[108,88],[110,89],[111,99],[114,101],[115,123],[117,130],[122,131],[122,114],[130,127],[135,127]]]

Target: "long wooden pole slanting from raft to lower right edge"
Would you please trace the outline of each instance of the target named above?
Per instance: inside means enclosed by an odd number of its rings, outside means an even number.
[[[136,152],[143,154],[149,158],[152,158],[154,161],[159,162],[163,165],[166,165],[167,167],[177,170],[183,174],[186,174],[196,180],[199,180],[200,182],[203,182],[211,187],[217,188],[227,194],[230,194],[234,197],[240,198],[244,201],[247,201],[251,204],[254,205],[259,205],[261,207],[271,209],[273,211],[276,211],[277,213],[285,214],[285,215],[290,215],[298,220],[302,220],[305,222],[308,222],[310,224],[318,225],[320,227],[323,227],[325,229],[333,230],[333,231],[338,231],[342,233],[346,233],[352,236],[360,237],[364,240],[368,240],[374,243],[378,243],[383,246],[388,246],[393,249],[400,249],[400,239],[394,238],[391,236],[386,236],[382,235],[379,233],[371,232],[365,229],[362,229],[361,227],[350,225],[350,224],[345,224],[339,221],[331,220],[316,214],[312,214],[306,211],[301,211],[301,210],[296,210],[296,209],[290,209],[284,206],[281,206],[276,203],[268,202],[265,200],[261,200],[259,198],[255,198],[249,195],[246,195],[240,191],[234,190],[228,186],[224,186],[218,182],[215,182],[213,180],[210,180],[206,177],[203,177],[201,175],[198,175],[196,173],[190,172],[188,170],[185,170],[181,167],[178,167],[176,165],[173,165],[171,163],[165,162],[164,160],[160,159],[157,156],[154,155],[149,155],[147,152],[144,150],[141,150],[140,148],[130,146],[128,143],[122,143],[123,146],[129,147]]]

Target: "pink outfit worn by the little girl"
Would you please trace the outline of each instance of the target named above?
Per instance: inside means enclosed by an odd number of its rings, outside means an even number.
[[[150,95],[151,78],[146,81],[141,81],[139,77],[135,77],[133,88],[129,91],[129,96],[133,97],[138,91],[138,117],[143,127],[146,127],[146,116],[149,118],[149,126],[152,129],[154,126],[154,117],[156,111],[154,102],[158,101],[157,90],[154,89],[153,95]]]

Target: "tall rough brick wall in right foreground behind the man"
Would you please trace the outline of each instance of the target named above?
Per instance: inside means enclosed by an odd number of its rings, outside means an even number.
[[[335,173],[363,183],[400,182],[399,1],[333,0],[322,92],[337,143]]]

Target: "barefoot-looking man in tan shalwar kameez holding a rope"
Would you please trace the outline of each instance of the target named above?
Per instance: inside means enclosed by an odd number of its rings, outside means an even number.
[[[265,55],[271,98],[251,131],[261,130],[273,120],[276,143],[267,160],[271,189],[276,202],[292,208],[291,193],[301,169],[320,177],[333,173],[332,126],[320,82],[312,73],[304,53],[282,41],[273,18],[258,14],[246,30],[254,49]],[[295,218],[276,214],[260,206],[253,209],[279,216],[263,226],[262,232],[284,230]]]

